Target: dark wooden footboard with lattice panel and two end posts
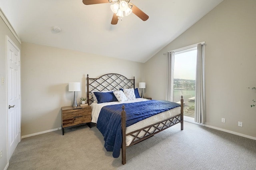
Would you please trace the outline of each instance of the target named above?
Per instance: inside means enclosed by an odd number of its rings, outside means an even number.
[[[131,135],[133,136],[133,140],[132,142],[129,144],[129,146],[132,146],[138,142],[141,142],[142,140],[145,140],[147,138],[150,138],[151,136],[153,136],[154,134],[165,130],[166,128],[172,127],[173,125],[176,125],[178,123],[181,123],[180,125],[180,129],[183,130],[183,96],[181,96],[180,99],[180,114],[176,115],[174,117],[171,117],[169,119],[166,119],[164,121],[155,123],[153,125],[141,128],[139,130],[135,130],[134,132],[130,132],[128,134],[126,134],[126,112],[125,112],[125,107],[124,105],[122,106],[122,119],[121,119],[121,123],[122,123],[122,164],[126,164],[126,136]],[[153,132],[151,132],[152,130],[150,129],[154,129]],[[150,130],[150,131],[149,131]],[[138,136],[140,134],[140,132],[144,132],[144,135],[142,137]]]

